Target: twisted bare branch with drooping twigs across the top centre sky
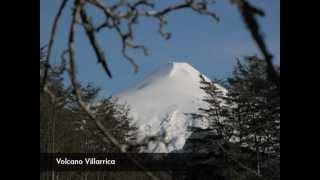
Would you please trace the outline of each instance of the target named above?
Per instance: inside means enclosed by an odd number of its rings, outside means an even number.
[[[153,17],[159,20],[159,33],[165,39],[169,39],[171,34],[164,31],[164,26],[167,24],[165,19],[166,15],[180,9],[191,9],[201,15],[208,15],[213,17],[215,20],[219,21],[217,15],[213,12],[208,11],[207,4],[209,1],[199,1],[199,0],[185,0],[184,2],[172,5],[159,11],[154,11],[154,3],[150,0],[137,0],[137,1],[119,1],[113,5],[108,5],[105,2],[99,0],[86,0],[85,2],[93,5],[98,10],[101,10],[105,15],[105,21],[100,25],[94,26],[87,17],[87,13],[84,8],[81,10],[81,16],[83,24],[85,24],[85,29],[87,36],[91,39],[91,45],[95,46],[96,52],[101,52],[101,48],[97,48],[97,43],[93,43],[95,32],[100,32],[104,28],[114,29],[121,38],[122,48],[121,53],[123,57],[133,66],[134,72],[138,71],[138,64],[134,59],[127,53],[128,49],[142,49],[144,55],[148,55],[147,48],[143,45],[134,45],[133,39],[133,26],[137,24],[140,17]],[[213,2],[211,2],[213,3]],[[140,7],[146,7],[146,9],[141,9]],[[126,9],[125,12],[119,9]],[[149,9],[149,10],[148,10]],[[123,26],[125,24],[125,26]],[[126,27],[126,31],[123,28]],[[94,45],[95,44],[95,45]],[[100,50],[99,50],[100,49]],[[97,54],[97,53],[96,53]],[[98,53],[101,54],[102,53]],[[100,55],[99,55],[100,56]],[[98,57],[98,60],[101,57]],[[103,62],[103,61],[99,61]],[[105,68],[106,69],[106,68]]]

